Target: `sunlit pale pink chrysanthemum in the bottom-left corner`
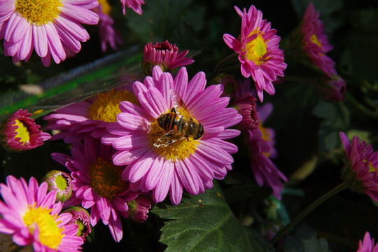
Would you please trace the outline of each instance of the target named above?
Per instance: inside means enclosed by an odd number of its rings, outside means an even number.
[[[79,251],[78,225],[68,224],[71,214],[59,214],[62,204],[55,203],[55,190],[47,193],[47,183],[38,186],[33,177],[28,184],[7,176],[6,183],[0,184],[0,232],[13,235],[18,246],[32,244],[34,251]]]

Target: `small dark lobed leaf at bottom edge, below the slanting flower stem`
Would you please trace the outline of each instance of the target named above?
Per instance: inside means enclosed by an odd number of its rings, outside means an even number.
[[[317,239],[316,232],[307,225],[302,225],[295,232],[295,237],[288,236],[285,240],[285,252],[328,252],[328,242],[324,238]]]

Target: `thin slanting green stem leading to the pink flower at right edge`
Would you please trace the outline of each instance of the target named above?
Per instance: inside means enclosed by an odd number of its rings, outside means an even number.
[[[328,200],[330,197],[332,197],[333,195],[336,195],[337,193],[341,192],[342,190],[346,188],[348,188],[348,184],[345,182],[342,182],[339,184],[339,186],[336,186],[335,188],[330,190],[328,193],[325,193],[325,195],[319,197],[318,200],[315,200],[314,202],[312,202],[312,204],[310,204],[309,207],[307,207],[302,212],[300,212],[300,214],[295,216],[295,218],[293,218],[293,220],[290,221],[288,225],[283,227],[279,231],[279,233],[270,241],[270,244],[274,245],[277,241],[279,241],[279,239],[281,239],[281,237],[283,237],[283,235],[286,234],[286,232],[288,232],[288,230],[290,230],[290,228],[292,228],[295,224],[297,224],[298,221],[302,220],[304,216],[307,216],[307,214],[309,214],[312,210],[318,207],[318,205],[325,202],[325,200]]]

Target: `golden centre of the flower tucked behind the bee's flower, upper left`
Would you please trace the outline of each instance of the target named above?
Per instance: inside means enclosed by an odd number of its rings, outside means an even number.
[[[89,117],[92,120],[101,120],[107,123],[116,122],[117,114],[120,113],[118,105],[123,101],[139,105],[137,97],[127,90],[110,90],[98,94],[90,106]]]

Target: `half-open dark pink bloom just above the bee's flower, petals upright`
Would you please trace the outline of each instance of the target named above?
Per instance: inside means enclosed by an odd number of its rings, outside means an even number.
[[[144,73],[151,76],[154,66],[160,66],[162,71],[171,71],[176,67],[186,66],[194,62],[192,57],[185,57],[189,50],[179,53],[179,48],[168,41],[152,42],[144,45],[142,68]]]

